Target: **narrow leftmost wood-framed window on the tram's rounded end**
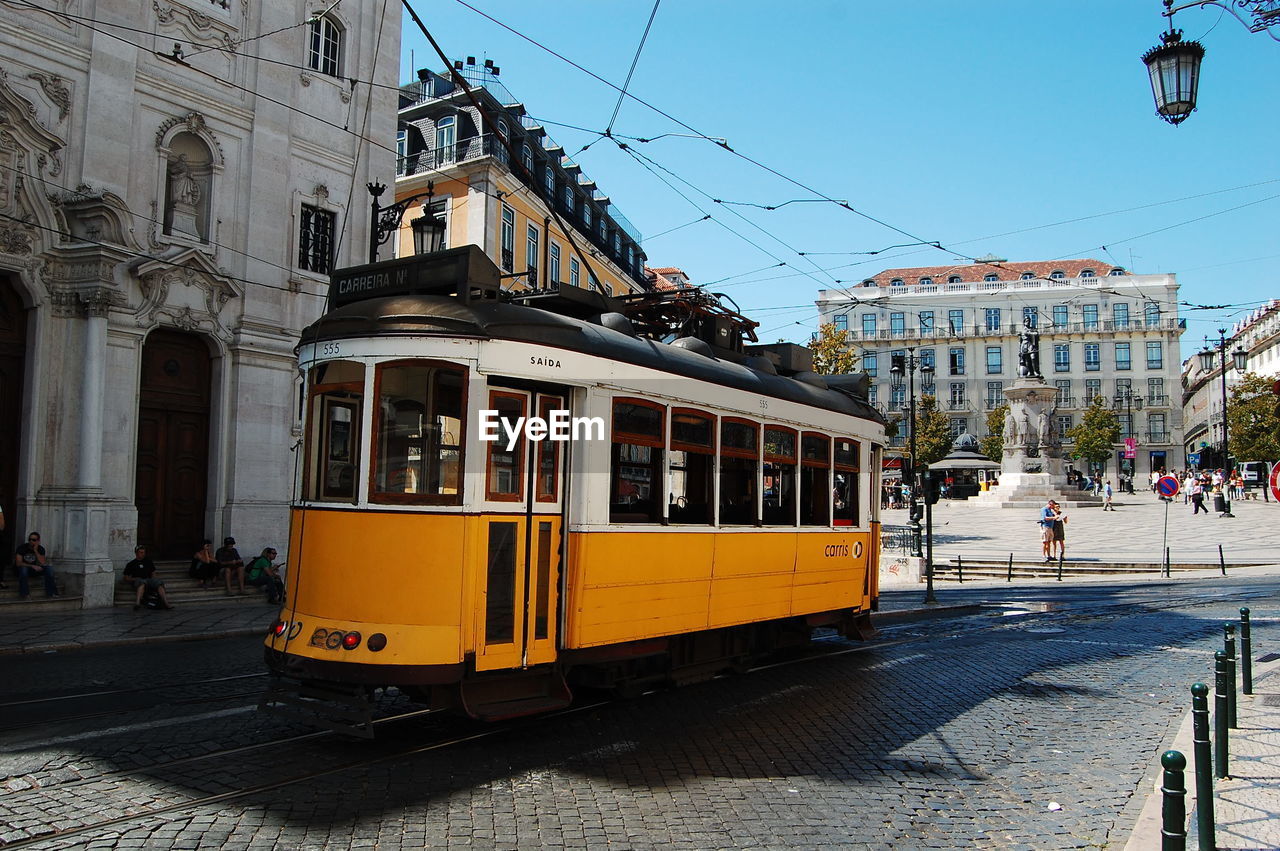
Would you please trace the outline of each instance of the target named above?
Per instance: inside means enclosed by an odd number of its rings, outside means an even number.
[[[329,361],[312,369],[308,379],[311,404],[303,495],[317,502],[356,502],[365,365]]]

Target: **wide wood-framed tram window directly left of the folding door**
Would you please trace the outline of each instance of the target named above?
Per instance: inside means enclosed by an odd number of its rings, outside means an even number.
[[[466,371],[424,362],[378,367],[374,502],[462,503]]]

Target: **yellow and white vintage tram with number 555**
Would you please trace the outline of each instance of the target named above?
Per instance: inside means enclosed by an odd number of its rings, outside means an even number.
[[[754,324],[699,290],[499,282],[475,247],[334,275],[298,347],[266,708],[325,697],[367,729],[365,695],[397,686],[498,719],[869,630],[865,376],[744,346]]]

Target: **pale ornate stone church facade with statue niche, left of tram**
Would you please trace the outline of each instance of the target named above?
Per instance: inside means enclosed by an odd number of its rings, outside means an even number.
[[[4,12],[3,546],[40,530],[86,607],[136,543],[283,553],[293,347],[362,258],[364,184],[394,171],[399,8]]]

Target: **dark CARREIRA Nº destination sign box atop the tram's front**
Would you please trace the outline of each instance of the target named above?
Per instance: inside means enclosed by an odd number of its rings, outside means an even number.
[[[479,246],[347,266],[329,276],[329,310],[387,296],[457,296],[499,289],[500,270]]]

